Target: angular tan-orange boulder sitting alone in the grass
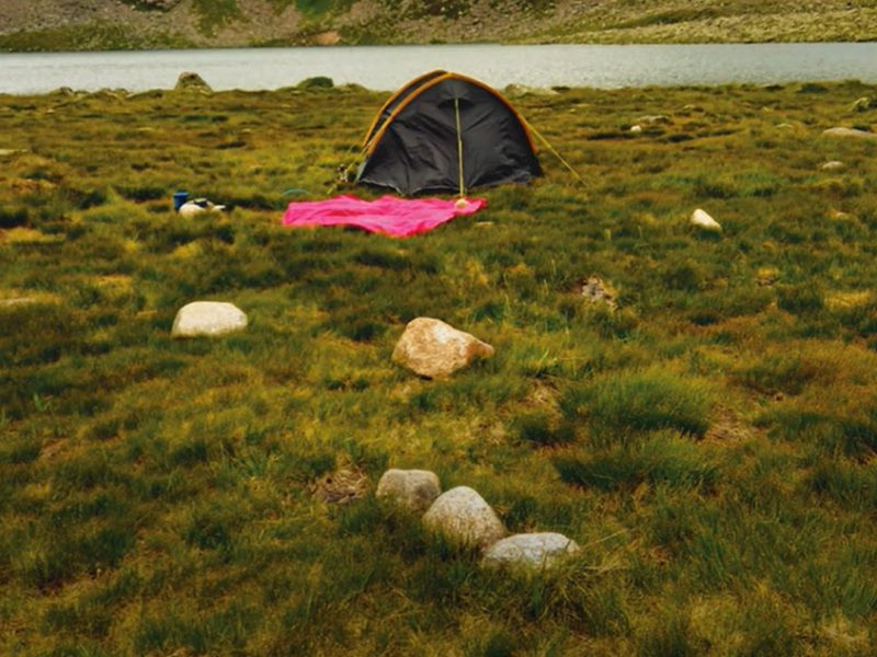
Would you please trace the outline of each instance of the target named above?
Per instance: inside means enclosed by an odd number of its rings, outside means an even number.
[[[489,358],[493,347],[441,320],[411,320],[396,343],[392,360],[430,379],[445,379],[476,358]]]

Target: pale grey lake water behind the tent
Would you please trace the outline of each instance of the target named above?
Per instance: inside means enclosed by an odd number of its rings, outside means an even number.
[[[182,71],[210,87],[277,89],[312,76],[392,90],[443,68],[494,87],[645,87],[857,79],[877,82],[877,43],[683,46],[361,46],[0,55],[0,93],[58,87],[169,89]]]

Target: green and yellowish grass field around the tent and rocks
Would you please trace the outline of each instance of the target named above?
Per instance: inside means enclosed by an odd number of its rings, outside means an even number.
[[[821,132],[877,128],[875,93],[527,96],[586,185],[543,150],[405,241],[280,226],[383,94],[0,96],[0,652],[867,654],[877,143]],[[193,300],[250,326],[171,339]],[[496,356],[418,379],[390,353],[419,315]],[[582,552],[485,572],[377,504],[390,466]],[[324,502],[331,473],[368,493]]]

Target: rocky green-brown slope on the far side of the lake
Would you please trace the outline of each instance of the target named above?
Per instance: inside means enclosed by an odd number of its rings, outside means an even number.
[[[2,0],[0,49],[877,39],[877,0]]]

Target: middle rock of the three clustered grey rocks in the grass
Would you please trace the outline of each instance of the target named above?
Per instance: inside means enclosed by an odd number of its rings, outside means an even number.
[[[452,543],[485,549],[505,535],[497,514],[478,493],[457,486],[443,493],[423,515],[423,526]]]

